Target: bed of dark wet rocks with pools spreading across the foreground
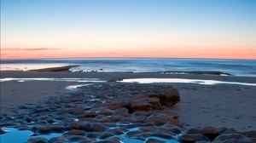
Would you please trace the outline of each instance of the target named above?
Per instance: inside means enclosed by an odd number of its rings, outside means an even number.
[[[20,106],[1,117],[3,127],[32,130],[27,142],[253,142],[254,131],[183,129],[172,106],[177,89],[164,84],[96,83],[46,103]],[[61,133],[49,140],[38,134]],[[234,141],[236,140],[236,141]]]

